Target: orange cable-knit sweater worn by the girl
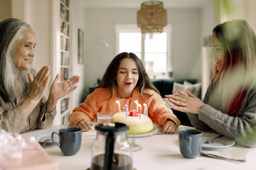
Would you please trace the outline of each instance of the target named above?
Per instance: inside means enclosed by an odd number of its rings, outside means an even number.
[[[140,94],[138,87],[135,87],[129,99],[116,97],[116,90],[113,97],[109,99],[111,94],[108,88],[97,88],[87,97],[84,103],[74,108],[73,113],[68,118],[70,125],[75,126],[83,119],[91,122],[96,118],[96,114],[99,111],[110,111],[113,114],[118,113],[119,108],[118,104],[116,104],[117,100],[120,101],[121,111],[125,111],[124,106],[127,102],[129,102],[129,110],[136,110],[136,103],[134,103],[134,101],[137,100],[142,106],[142,113],[144,113],[145,109],[143,104],[147,104],[148,109],[146,110],[146,115],[151,118],[152,122],[163,126],[167,120],[172,120],[177,127],[179,127],[179,120],[173,114],[172,110],[166,108],[163,99],[157,92],[151,89],[145,89],[144,93],[152,96],[144,98]]]

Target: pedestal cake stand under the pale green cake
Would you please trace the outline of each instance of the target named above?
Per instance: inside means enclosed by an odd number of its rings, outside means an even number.
[[[131,151],[139,151],[142,150],[142,146],[135,143],[135,138],[144,138],[148,136],[153,136],[154,134],[157,134],[158,127],[154,125],[154,128],[145,134],[128,134],[128,141],[131,145]]]

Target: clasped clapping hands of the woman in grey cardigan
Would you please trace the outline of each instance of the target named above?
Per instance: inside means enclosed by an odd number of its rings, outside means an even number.
[[[166,95],[164,101],[166,101],[173,110],[199,114],[204,103],[189,91],[188,94],[180,90],[178,90],[178,92],[179,94]]]

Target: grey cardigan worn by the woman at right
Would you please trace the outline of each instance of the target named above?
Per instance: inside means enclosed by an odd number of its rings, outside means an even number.
[[[209,87],[204,102],[209,101]],[[187,113],[191,124],[199,130],[214,130],[228,138],[234,139],[239,145],[256,146],[256,89],[252,85],[246,92],[243,103],[233,116],[222,113],[205,104],[199,115]]]

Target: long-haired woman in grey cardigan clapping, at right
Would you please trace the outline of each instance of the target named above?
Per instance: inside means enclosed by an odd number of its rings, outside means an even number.
[[[168,95],[174,110],[186,112],[200,130],[214,130],[247,147],[256,146],[256,37],[245,20],[216,25],[211,37],[213,76],[204,100],[191,92]]]

